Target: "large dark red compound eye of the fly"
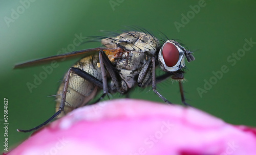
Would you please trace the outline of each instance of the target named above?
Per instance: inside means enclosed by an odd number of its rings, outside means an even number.
[[[168,67],[173,67],[179,61],[179,50],[172,43],[165,43],[162,50],[163,60]]]

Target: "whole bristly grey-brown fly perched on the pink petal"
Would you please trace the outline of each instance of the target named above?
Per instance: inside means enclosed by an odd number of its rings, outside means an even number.
[[[86,106],[101,90],[103,93],[95,102],[108,93],[127,94],[136,86],[152,86],[152,90],[170,104],[171,102],[156,89],[156,84],[168,77],[179,81],[181,99],[183,104],[187,105],[181,80],[184,78],[185,58],[188,62],[195,60],[193,53],[175,40],[167,39],[160,43],[160,40],[148,31],[140,30],[123,31],[115,37],[102,37],[101,43],[105,47],[74,51],[16,65],[15,68],[20,68],[85,55],[65,75],[57,93],[59,95],[56,95],[56,113],[46,122],[30,130],[18,131],[37,130],[56,116],[62,116],[63,111],[68,113]],[[157,66],[165,72],[158,77],[155,71]]]

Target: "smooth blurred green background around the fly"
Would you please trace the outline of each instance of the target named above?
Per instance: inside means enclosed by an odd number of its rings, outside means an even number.
[[[102,36],[100,30],[115,31],[125,25],[137,25],[156,36],[161,31],[195,50],[196,60],[186,62],[184,89],[189,104],[228,123],[256,126],[255,1],[31,1],[0,1],[0,122],[3,126],[4,98],[8,98],[9,149],[31,134],[18,133],[17,128],[31,128],[54,113],[54,97],[47,96],[56,94],[58,81],[78,59],[59,63],[32,93],[26,84],[33,83],[42,67],[13,70],[13,66],[56,55],[73,43],[75,34]],[[253,43],[243,53],[240,49],[250,38]],[[75,50],[98,46],[86,43]],[[223,65],[228,72],[217,79],[212,72],[221,71]],[[214,85],[206,90],[205,81]],[[180,104],[178,88],[170,80],[158,85],[163,96]],[[148,90],[136,89],[131,97],[162,102]],[[3,127],[0,133],[2,140]]]

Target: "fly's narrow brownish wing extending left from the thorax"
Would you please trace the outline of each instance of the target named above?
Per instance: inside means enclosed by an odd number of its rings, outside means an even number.
[[[21,63],[21,64],[17,64],[14,66],[15,68],[22,68],[22,67],[28,67],[28,66],[32,66],[32,65],[37,65],[37,64],[41,64],[41,63],[47,63],[53,60],[60,60],[63,58],[69,58],[69,57],[75,57],[75,56],[89,56],[94,54],[95,52],[98,51],[104,51],[105,53],[113,53],[115,51],[118,50],[118,48],[92,48],[92,49],[84,49],[84,50],[78,50],[78,51],[73,51],[72,53],[67,53],[67,54],[61,54],[61,55],[57,55],[57,56],[52,56],[52,57],[47,57],[47,58],[42,58],[42,59],[37,59],[37,60],[33,60],[33,61],[29,61],[29,62],[25,62],[25,63]]]

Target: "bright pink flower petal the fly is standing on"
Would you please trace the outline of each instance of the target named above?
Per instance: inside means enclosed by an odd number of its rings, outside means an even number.
[[[194,108],[118,99],[74,110],[11,154],[256,154],[256,129]]]

